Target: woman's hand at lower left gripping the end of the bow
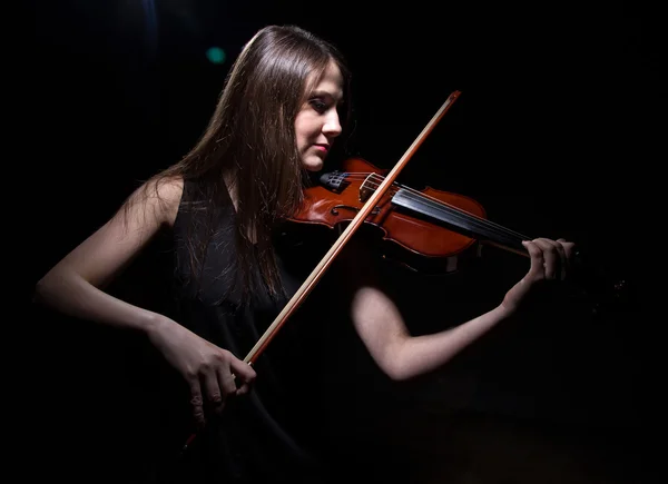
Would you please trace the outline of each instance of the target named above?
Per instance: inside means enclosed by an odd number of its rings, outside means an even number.
[[[204,398],[220,413],[227,397],[248,392],[256,377],[250,365],[171,319],[155,325],[149,339],[186,379],[198,425],[205,423]]]

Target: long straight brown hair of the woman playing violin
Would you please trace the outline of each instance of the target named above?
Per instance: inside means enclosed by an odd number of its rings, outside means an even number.
[[[340,51],[298,27],[263,28],[232,66],[198,142],[156,177],[195,180],[202,190],[198,210],[206,215],[208,237],[191,238],[197,243],[188,241],[187,247],[190,266],[199,271],[219,209],[229,203],[223,185],[227,184],[237,201],[235,264],[244,296],[257,289],[254,267],[272,296],[284,295],[272,229],[303,201],[308,177],[296,148],[295,118],[331,61],[344,79],[341,124],[345,129],[351,112],[350,72]]]

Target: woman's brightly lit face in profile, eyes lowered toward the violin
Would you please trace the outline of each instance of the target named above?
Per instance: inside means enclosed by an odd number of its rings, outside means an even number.
[[[310,171],[323,168],[334,139],[341,135],[340,102],[343,98],[343,77],[334,62],[302,106],[295,119],[297,150]]]

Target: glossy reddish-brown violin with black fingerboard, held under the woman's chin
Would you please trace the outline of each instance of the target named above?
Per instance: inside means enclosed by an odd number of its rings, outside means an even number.
[[[348,158],[341,170],[322,175],[317,185],[305,189],[304,203],[291,221],[342,227],[354,219],[386,174],[363,158]],[[383,257],[429,275],[465,269],[484,245],[529,257],[522,240],[534,238],[489,220],[484,207],[471,197],[432,187],[418,190],[396,181],[372,207],[364,225],[377,229]],[[573,261],[574,294],[593,316],[628,302],[626,278],[603,274],[582,249]]]

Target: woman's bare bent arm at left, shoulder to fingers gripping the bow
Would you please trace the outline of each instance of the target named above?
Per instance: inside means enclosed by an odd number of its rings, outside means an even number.
[[[84,320],[146,334],[188,382],[193,412],[202,424],[203,393],[220,411],[228,394],[248,389],[255,371],[175,320],[104,290],[161,227],[174,224],[181,194],[183,180],[149,181],[140,187],[114,217],[37,283],[35,300]]]

